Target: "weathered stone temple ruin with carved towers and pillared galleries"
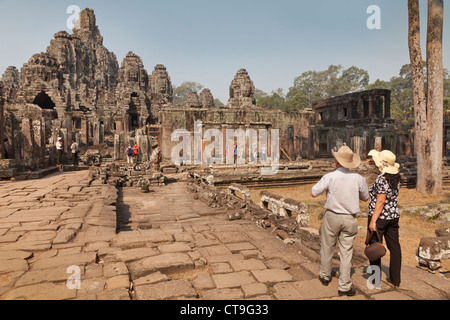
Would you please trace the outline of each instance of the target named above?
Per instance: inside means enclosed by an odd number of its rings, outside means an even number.
[[[315,179],[323,172],[315,170],[321,162],[314,159],[330,158],[332,148],[346,144],[363,159],[371,149],[391,149],[405,159],[405,183],[414,184],[414,168],[408,167],[414,163],[414,131],[391,119],[390,91],[351,93],[319,102],[312,109],[285,113],[258,108],[253,81],[240,69],[231,82],[226,106],[215,107],[209,89],[192,92],[185,105],[175,105],[166,67],[157,64],[150,74],[131,51],[119,66],[115,54],[103,45],[91,9],[81,12],[79,28],[72,34],[57,32],[46,52],[33,55],[20,71],[7,68],[1,82],[0,138],[8,141],[1,145],[0,178],[54,166],[58,137],[64,141],[66,163],[72,139],[79,143],[87,165],[102,158],[126,160],[125,148],[137,141],[141,161],[149,161],[152,154],[155,157],[159,148],[161,169],[182,171],[171,161],[177,144],[172,136],[179,129],[193,133],[195,123],[201,122],[203,132],[217,129],[224,136],[229,129],[266,130],[269,159],[271,131],[278,130],[280,150],[276,152],[282,160],[283,177],[288,177],[285,182],[297,183],[298,177],[301,180],[308,174]],[[444,136],[448,139],[449,135]],[[193,145],[193,135],[191,139]],[[245,164],[251,162],[253,146],[249,144],[247,136],[245,145],[239,147]],[[206,147],[203,142],[201,152]],[[232,151],[226,141],[223,149],[225,162]],[[208,163],[201,164],[209,168]],[[234,169],[216,165],[214,175],[217,181],[231,183],[242,182],[241,174],[248,183],[267,182],[258,175],[260,167],[258,163]],[[230,170],[236,177],[220,178]],[[280,179],[278,175],[274,181]]]

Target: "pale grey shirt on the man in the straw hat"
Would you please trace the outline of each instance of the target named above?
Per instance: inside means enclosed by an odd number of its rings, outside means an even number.
[[[312,194],[317,197],[327,193],[325,209],[341,214],[357,214],[361,212],[359,200],[369,199],[369,187],[366,180],[357,173],[345,168],[339,168],[325,175],[312,188]]]

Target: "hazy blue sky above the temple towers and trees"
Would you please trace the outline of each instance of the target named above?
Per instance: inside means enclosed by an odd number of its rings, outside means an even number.
[[[407,0],[0,0],[0,74],[46,51],[67,29],[67,8],[92,8],[104,45],[119,64],[128,51],[149,74],[164,64],[174,85],[196,81],[226,102],[236,72],[255,86],[285,92],[294,78],[330,64],[357,66],[370,81],[389,80],[409,63]],[[369,30],[367,8],[381,9],[381,29]],[[425,52],[427,1],[421,0]],[[450,69],[450,9],[444,8],[444,67]]]

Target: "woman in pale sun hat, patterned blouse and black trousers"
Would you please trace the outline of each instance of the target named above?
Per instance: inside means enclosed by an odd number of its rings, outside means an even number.
[[[386,240],[390,252],[389,274],[394,286],[400,286],[402,250],[399,241],[398,194],[400,191],[400,165],[396,163],[396,156],[389,150],[369,153],[373,164],[381,174],[369,189],[369,230],[378,231],[381,239]],[[373,240],[376,240],[374,237]],[[381,259],[370,261],[371,265],[380,267]]]

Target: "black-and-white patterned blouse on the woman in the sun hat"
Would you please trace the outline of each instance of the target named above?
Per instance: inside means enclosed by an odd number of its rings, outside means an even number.
[[[382,175],[378,176],[373,186],[369,189],[370,203],[369,216],[373,216],[375,212],[375,204],[377,203],[378,194],[386,194],[386,203],[383,211],[380,214],[381,220],[393,220],[400,218],[400,211],[398,210],[398,194],[400,191],[400,183],[397,188],[391,189],[386,178]]]

